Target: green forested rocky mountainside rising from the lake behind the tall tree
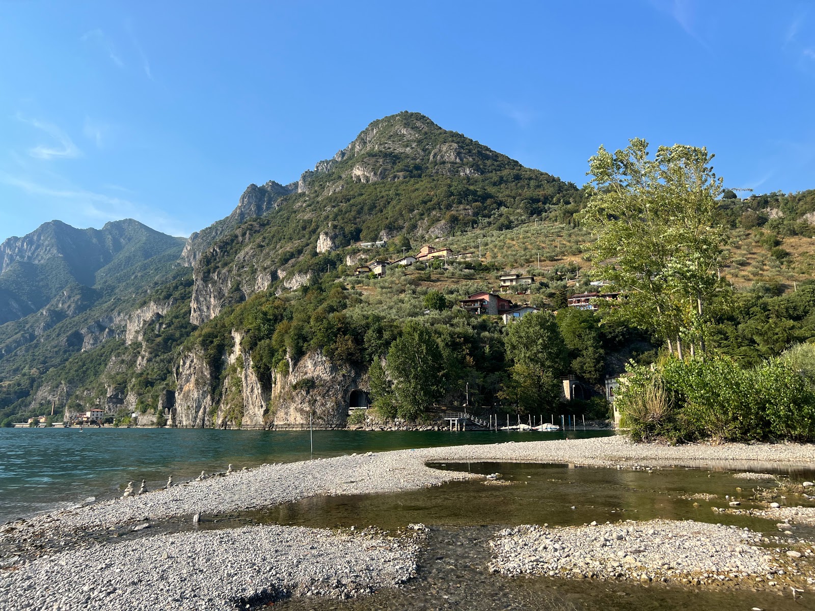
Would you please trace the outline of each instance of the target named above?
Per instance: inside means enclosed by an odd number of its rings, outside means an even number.
[[[425,116],[374,121],[297,182],[249,186],[180,259],[178,246],[111,259],[92,285],[46,291],[44,314],[0,325],[0,420],[55,404],[59,419],[100,405],[117,422],[286,427],[311,414],[341,426],[355,392],[381,419],[416,419],[459,405],[468,386],[471,405],[539,413],[558,401],[559,376],[592,388],[662,348],[646,328],[565,307],[591,288],[585,203],[584,189]],[[756,364],[815,336],[815,191],[725,191],[719,204],[732,287],[710,347]],[[474,254],[355,275],[422,244]],[[496,291],[504,272],[535,275],[508,297],[557,316],[505,326],[456,306]],[[522,355],[522,336],[549,347]],[[527,382],[524,367],[541,363],[549,383]],[[562,408],[607,409],[601,398]]]

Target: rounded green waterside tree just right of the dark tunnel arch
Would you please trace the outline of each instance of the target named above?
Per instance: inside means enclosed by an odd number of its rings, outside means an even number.
[[[385,371],[393,380],[397,414],[405,420],[415,420],[443,393],[442,350],[419,321],[408,320],[390,345]]]

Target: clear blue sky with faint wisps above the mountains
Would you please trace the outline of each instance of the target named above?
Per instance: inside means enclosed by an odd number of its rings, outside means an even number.
[[[0,2],[0,91],[0,240],[188,235],[401,110],[578,184],[641,137],[815,188],[812,2]]]

